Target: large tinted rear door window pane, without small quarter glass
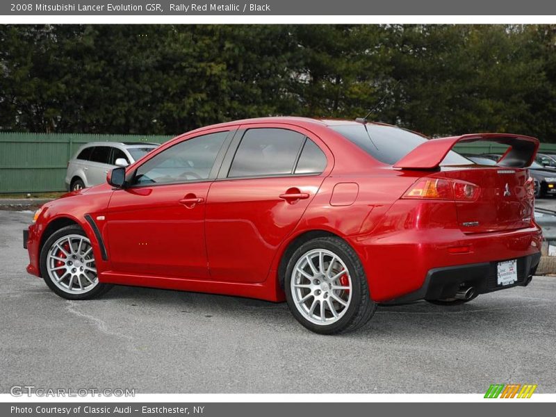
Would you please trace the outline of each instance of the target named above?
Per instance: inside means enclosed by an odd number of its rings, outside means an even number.
[[[228,177],[291,174],[305,136],[287,129],[245,132]]]

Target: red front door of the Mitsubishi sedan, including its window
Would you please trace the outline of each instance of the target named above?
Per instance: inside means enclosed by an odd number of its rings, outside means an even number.
[[[133,167],[130,185],[114,191],[106,216],[114,272],[208,277],[205,203],[230,135],[186,138]]]

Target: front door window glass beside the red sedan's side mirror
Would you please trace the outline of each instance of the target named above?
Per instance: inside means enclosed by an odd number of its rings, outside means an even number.
[[[211,133],[184,140],[138,167],[135,182],[180,183],[208,179],[228,132]]]

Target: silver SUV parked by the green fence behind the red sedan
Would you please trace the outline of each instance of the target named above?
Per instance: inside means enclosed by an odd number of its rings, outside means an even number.
[[[126,167],[158,146],[145,142],[87,143],[67,163],[65,186],[74,191],[104,183],[113,167]]]

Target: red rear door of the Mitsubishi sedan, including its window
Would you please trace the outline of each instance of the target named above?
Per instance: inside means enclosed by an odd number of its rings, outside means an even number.
[[[206,247],[213,279],[266,279],[277,248],[325,178],[327,156],[332,160],[312,136],[280,124],[240,127],[208,191]]]

